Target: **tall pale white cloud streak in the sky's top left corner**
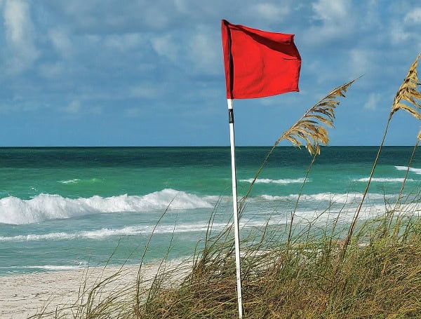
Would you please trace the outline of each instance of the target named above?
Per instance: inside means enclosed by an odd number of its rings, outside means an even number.
[[[34,45],[34,27],[29,15],[29,4],[23,0],[6,0],[4,6],[6,41],[10,50],[8,71],[18,74],[39,57]]]

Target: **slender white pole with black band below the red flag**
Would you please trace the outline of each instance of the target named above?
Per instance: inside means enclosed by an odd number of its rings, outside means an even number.
[[[241,296],[239,215],[238,215],[238,208],[237,208],[237,192],[236,192],[234,109],[232,107],[232,99],[227,99],[227,104],[228,104],[228,118],[229,118],[229,144],[231,146],[232,209],[234,212],[234,243],[235,243],[237,301],[239,304],[239,319],[242,319],[243,318],[243,302],[242,302],[242,296]]]

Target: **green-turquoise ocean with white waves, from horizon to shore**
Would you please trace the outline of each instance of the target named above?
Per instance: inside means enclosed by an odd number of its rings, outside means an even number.
[[[239,199],[269,147],[236,147]],[[361,218],[394,205],[413,147],[385,147]],[[338,217],[347,223],[361,200],[377,147],[278,147],[241,216],[241,233],[266,224]],[[135,264],[192,256],[213,215],[213,231],[232,219],[229,147],[0,148],[0,276]],[[418,201],[415,154],[404,194]],[[164,214],[165,212],[165,214]],[[152,232],[154,233],[151,237]],[[200,247],[200,244],[199,244]]]

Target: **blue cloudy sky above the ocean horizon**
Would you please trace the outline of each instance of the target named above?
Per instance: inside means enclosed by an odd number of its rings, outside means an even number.
[[[421,52],[419,0],[0,0],[0,147],[229,145],[222,19],[295,34],[302,57],[300,92],[234,100],[238,146],[359,76],[329,145],[380,144]],[[386,144],[419,129],[398,111]]]

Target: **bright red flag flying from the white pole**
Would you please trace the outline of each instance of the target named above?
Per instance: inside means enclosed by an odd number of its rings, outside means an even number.
[[[228,99],[298,92],[301,57],[294,34],[265,32],[222,20]]]

